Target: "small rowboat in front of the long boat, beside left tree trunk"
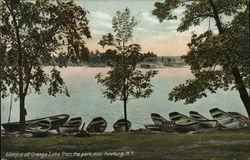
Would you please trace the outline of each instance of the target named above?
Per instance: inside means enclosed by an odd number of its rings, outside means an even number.
[[[31,133],[33,137],[45,137],[51,129],[51,121],[40,120],[26,126],[26,132]]]

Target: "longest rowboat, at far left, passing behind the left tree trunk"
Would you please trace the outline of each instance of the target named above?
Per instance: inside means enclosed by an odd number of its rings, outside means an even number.
[[[55,116],[50,116],[50,117],[45,117],[45,118],[32,119],[32,120],[25,121],[25,126],[27,127],[28,125],[33,124],[40,120],[48,120],[51,122],[50,130],[52,130],[63,125],[68,120],[68,118],[69,118],[68,114],[60,114],[60,115],[55,115]],[[17,132],[20,130],[20,122],[3,123],[1,125],[3,126],[6,132]]]

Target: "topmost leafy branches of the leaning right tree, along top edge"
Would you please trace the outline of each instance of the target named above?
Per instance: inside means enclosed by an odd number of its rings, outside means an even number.
[[[225,1],[213,0],[219,16],[232,16],[239,10],[246,7],[248,0]],[[199,25],[203,20],[208,17],[214,18],[214,14],[209,0],[197,0],[193,2],[185,2],[185,0],[165,0],[164,2],[156,2],[155,9],[152,14],[157,16],[162,22],[163,20],[176,20],[181,18],[181,23],[178,31],[188,30],[192,25]],[[174,13],[177,8],[183,8],[183,16]],[[178,17],[179,16],[179,17]]]

